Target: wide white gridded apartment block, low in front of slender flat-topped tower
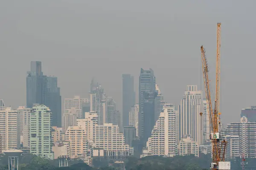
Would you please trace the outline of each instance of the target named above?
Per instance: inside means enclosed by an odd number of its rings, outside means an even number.
[[[96,126],[94,145],[96,148],[108,150],[109,153],[115,152],[117,155],[130,150],[129,145],[125,144],[124,135],[119,133],[119,127],[112,123]]]

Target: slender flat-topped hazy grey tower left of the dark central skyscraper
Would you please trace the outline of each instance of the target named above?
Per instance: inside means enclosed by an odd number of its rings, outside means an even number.
[[[130,108],[135,105],[134,77],[122,74],[122,126],[128,126]]]

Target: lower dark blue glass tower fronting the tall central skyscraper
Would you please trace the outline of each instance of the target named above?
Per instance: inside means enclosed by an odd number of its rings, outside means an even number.
[[[143,112],[142,115],[142,133],[141,139],[142,142],[148,141],[148,137],[151,135],[151,131],[156,123],[155,115],[157,111],[157,92],[144,92],[144,100],[143,100]],[[145,145],[145,144],[144,144]]]

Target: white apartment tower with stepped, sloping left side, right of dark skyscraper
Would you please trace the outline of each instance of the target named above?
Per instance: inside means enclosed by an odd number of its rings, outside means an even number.
[[[165,104],[148,138],[148,155],[173,157],[177,153],[175,107]]]

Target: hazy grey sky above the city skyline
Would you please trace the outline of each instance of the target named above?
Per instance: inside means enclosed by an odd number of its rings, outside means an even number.
[[[221,22],[221,112],[238,122],[256,105],[255,0],[0,0],[0,98],[26,105],[26,71],[42,61],[62,98],[88,97],[95,77],[121,110],[122,74],[152,68],[167,102],[201,83],[201,51],[215,89]],[[201,85],[200,85],[201,83]],[[138,101],[138,100],[137,100]]]

